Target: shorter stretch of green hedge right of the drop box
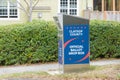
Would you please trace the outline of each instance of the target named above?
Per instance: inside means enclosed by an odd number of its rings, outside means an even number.
[[[92,21],[90,23],[91,59],[120,58],[120,23]]]

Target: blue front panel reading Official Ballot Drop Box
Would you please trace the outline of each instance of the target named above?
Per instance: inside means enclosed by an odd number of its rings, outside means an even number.
[[[89,63],[89,25],[64,25],[64,64]]]

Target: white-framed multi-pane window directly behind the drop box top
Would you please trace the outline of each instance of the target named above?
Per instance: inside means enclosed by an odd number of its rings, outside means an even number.
[[[60,13],[77,15],[77,0],[60,0]]]

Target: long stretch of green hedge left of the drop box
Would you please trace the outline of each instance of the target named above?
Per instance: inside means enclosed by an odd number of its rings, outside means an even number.
[[[57,29],[46,21],[0,27],[0,65],[57,60]]]

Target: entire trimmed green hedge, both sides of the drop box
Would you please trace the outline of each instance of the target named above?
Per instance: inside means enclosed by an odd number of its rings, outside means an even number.
[[[0,65],[57,61],[53,22],[33,21],[0,27]],[[120,23],[91,21],[91,59],[120,58]]]

